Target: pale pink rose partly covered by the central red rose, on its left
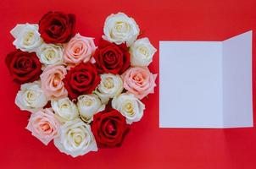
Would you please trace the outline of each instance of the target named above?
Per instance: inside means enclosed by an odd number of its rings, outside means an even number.
[[[51,98],[63,98],[68,96],[68,91],[64,88],[63,79],[67,74],[67,70],[64,66],[47,66],[40,78],[42,81],[42,90],[47,97]]]

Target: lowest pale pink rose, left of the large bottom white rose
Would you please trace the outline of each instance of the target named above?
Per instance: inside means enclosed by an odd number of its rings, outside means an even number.
[[[31,114],[26,128],[47,145],[52,139],[58,137],[60,123],[54,117],[52,109],[42,109]]]

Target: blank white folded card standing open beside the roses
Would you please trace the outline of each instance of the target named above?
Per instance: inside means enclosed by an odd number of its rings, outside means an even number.
[[[253,127],[252,31],[160,41],[160,128]]]

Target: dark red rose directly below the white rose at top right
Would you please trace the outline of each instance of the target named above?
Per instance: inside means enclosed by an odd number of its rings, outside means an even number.
[[[118,46],[101,40],[93,57],[100,74],[122,74],[130,67],[130,53],[125,44]]]

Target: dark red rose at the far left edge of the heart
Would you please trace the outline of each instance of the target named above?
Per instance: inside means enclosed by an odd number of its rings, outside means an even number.
[[[19,84],[33,82],[42,74],[42,64],[35,52],[16,50],[5,58],[9,73]]]

